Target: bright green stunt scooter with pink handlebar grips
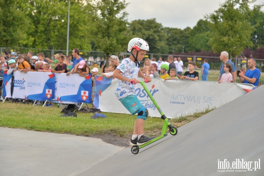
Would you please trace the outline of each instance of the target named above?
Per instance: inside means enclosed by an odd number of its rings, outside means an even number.
[[[155,141],[157,140],[160,140],[161,138],[164,138],[165,136],[167,136],[168,134],[166,133],[167,131],[167,127],[169,127],[169,130],[170,130],[170,134],[171,135],[176,135],[178,133],[178,130],[176,127],[172,126],[171,123],[169,122],[169,120],[167,119],[167,117],[164,115],[164,113],[162,112],[162,110],[160,109],[160,107],[158,106],[158,104],[156,103],[156,101],[154,100],[153,96],[151,95],[151,93],[149,92],[148,88],[145,86],[145,83],[148,82],[147,79],[143,80],[143,81],[138,81],[138,83],[141,83],[141,85],[143,86],[143,88],[145,89],[146,93],[148,94],[148,96],[150,97],[150,99],[152,100],[152,102],[154,103],[154,105],[156,106],[156,108],[158,109],[158,111],[160,112],[160,115],[161,115],[161,119],[163,119],[163,127],[162,127],[162,131],[161,131],[161,134],[160,136],[158,136],[157,138],[153,139],[153,140],[150,140],[149,142],[143,144],[143,145],[135,145],[133,147],[131,147],[131,152],[133,154],[138,154],[139,152],[139,149],[151,144],[151,143],[154,143]],[[134,81],[131,81],[131,84],[134,84],[135,82]]]

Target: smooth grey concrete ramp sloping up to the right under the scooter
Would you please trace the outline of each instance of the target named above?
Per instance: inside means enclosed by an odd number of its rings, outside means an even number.
[[[264,175],[263,126],[260,86],[180,127],[176,136],[136,155],[122,150],[80,175]]]

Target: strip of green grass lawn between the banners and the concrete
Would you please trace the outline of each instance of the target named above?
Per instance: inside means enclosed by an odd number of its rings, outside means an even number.
[[[133,126],[136,120],[136,115],[104,112],[102,113],[107,116],[106,118],[92,119],[93,113],[79,112],[76,118],[60,117],[60,111],[61,109],[56,104],[51,107],[42,107],[40,105],[32,106],[32,104],[5,101],[1,103],[0,126],[84,136],[108,133],[115,136],[128,137],[133,133]],[[178,128],[209,111],[211,109],[171,119],[170,123]],[[159,136],[162,125],[163,121],[161,118],[148,117],[145,121],[145,134],[148,136]]]

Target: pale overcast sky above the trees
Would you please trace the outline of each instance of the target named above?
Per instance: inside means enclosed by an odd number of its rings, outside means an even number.
[[[128,20],[156,19],[163,27],[193,28],[200,19],[218,10],[225,0],[125,0]],[[257,0],[255,4],[263,4]]]

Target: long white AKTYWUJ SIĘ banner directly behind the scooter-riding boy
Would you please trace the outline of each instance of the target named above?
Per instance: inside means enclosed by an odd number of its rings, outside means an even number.
[[[117,79],[96,77],[95,108],[99,108],[103,112],[129,114],[128,110],[116,98],[117,83]],[[145,83],[145,85],[167,118],[180,117],[208,107],[219,107],[254,89],[251,85],[239,83],[164,81],[159,78],[153,78],[150,83]],[[150,117],[161,116],[140,83],[136,84],[136,94],[141,103],[148,108]]]

